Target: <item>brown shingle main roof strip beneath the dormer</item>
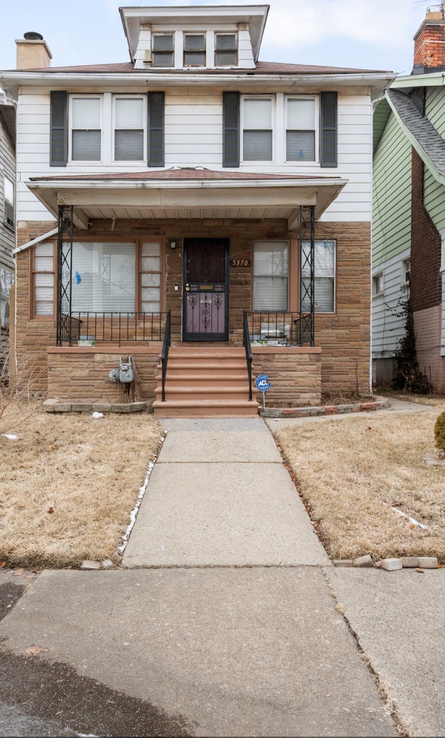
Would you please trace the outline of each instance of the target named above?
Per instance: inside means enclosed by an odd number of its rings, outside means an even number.
[[[22,71],[22,70],[9,70]],[[47,72],[49,74],[200,74],[200,75],[239,75],[244,72],[248,75],[354,75],[354,74],[387,74],[388,70],[382,69],[353,69],[342,66],[316,66],[310,64],[285,64],[280,62],[258,61],[255,69],[201,69],[190,67],[187,69],[171,69],[170,67],[149,67],[148,69],[135,69],[131,62],[116,64],[92,64],[80,66],[49,66],[42,69],[27,69],[27,72]]]

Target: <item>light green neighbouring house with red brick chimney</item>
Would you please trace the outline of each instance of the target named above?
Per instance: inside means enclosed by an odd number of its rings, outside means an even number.
[[[411,75],[374,113],[373,379],[392,379],[410,297],[417,358],[445,391],[445,20],[430,9],[414,37]]]

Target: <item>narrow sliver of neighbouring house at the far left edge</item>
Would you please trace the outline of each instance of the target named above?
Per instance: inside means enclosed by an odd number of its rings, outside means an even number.
[[[14,247],[15,103],[0,89],[0,365],[8,351]]]

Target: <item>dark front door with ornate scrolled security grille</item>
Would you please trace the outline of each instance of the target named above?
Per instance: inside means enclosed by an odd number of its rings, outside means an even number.
[[[227,341],[228,238],[184,238],[184,341]]]

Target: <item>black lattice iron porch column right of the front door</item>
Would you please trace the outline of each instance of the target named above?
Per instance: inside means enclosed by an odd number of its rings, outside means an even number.
[[[314,345],[315,313],[315,207],[300,206],[300,319]],[[308,324],[306,326],[306,323]]]

